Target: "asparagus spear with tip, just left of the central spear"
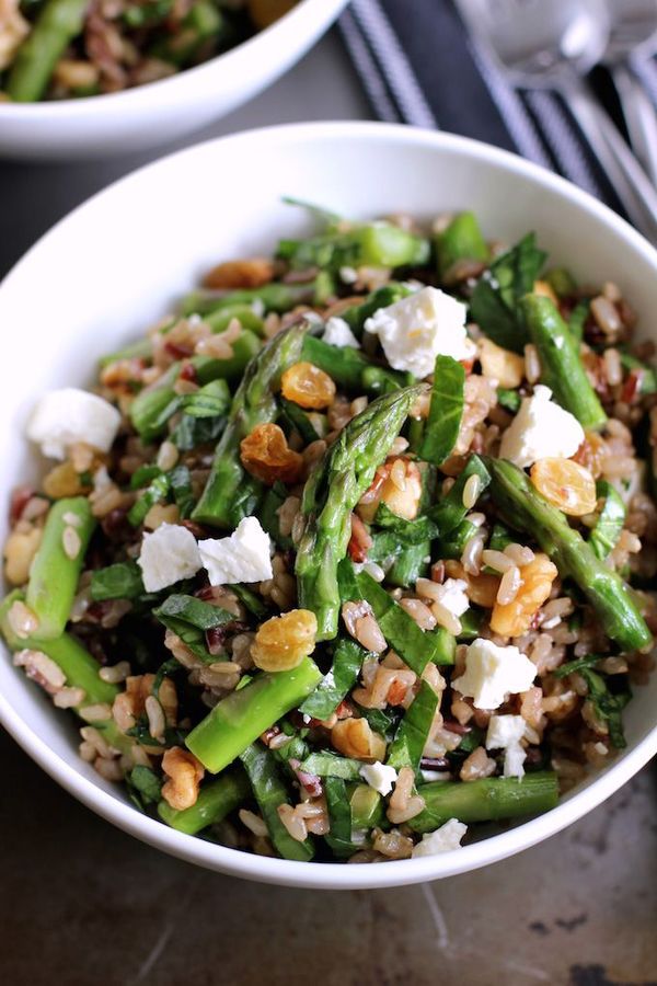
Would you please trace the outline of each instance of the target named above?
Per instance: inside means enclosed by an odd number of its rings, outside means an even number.
[[[215,451],[209,479],[192,514],[195,520],[232,529],[254,512],[262,484],[243,468],[240,443],[257,424],[277,416],[275,391],[287,367],[299,362],[308,328],[296,324],[279,332],[246,367]]]

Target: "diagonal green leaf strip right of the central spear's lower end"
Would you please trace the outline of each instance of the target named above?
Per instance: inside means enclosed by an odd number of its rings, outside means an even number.
[[[343,576],[341,586],[346,589],[347,597],[369,603],[383,637],[416,675],[422,675],[429,662],[453,664],[456,641],[451,633],[441,627],[437,630],[420,630],[413,617],[408,616],[371,575],[367,572],[354,573],[354,566],[348,559],[341,563],[339,569]],[[355,581],[355,589],[349,591],[351,577]]]

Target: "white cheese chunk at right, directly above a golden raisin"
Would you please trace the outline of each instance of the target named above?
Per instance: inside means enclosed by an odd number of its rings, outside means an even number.
[[[502,436],[499,457],[521,469],[539,459],[574,456],[584,442],[584,428],[569,411],[550,400],[549,387],[534,387]]]

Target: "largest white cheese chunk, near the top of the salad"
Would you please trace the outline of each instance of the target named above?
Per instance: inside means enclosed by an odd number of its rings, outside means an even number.
[[[465,306],[451,295],[425,287],[388,308],[380,308],[365,323],[378,335],[394,369],[420,379],[434,371],[436,356],[471,359],[476,346],[465,333]]]

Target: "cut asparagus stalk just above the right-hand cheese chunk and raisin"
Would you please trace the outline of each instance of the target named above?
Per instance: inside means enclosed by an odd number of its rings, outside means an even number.
[[[586,375],[577,343],[554,302],[543,295],[526,295],[520,299],[520,311],[539,353],[541,382],[584,428],[602,427],[607,415]]]

